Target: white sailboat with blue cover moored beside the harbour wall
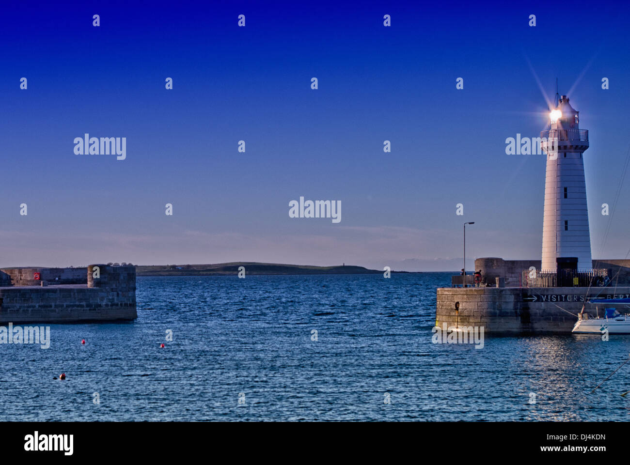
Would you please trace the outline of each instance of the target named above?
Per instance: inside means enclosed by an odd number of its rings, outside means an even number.
[[[578,314],[578,321],[571,333],[597,333],[602,334],[608,331],[609,334],[630,334],[629,314],[622,313],[619,308],[630,308],[630,299],[590,299],[590,304],[604,304],[604,316],[599,316],[599,307],[596,318],[589,318],[588,313],[584,313],[584,307]]]

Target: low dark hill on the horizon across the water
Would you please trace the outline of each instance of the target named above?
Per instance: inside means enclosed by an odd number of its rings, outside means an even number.
[[[137,276],[222,276],[236,275],[238,268],[245,267],[246,275],[347,275],[353,273],[382,273],[353,265],[314,267],[309,265],[284,265],[282,263],[257,263],[234,261],[212,265],[137,265]]]

